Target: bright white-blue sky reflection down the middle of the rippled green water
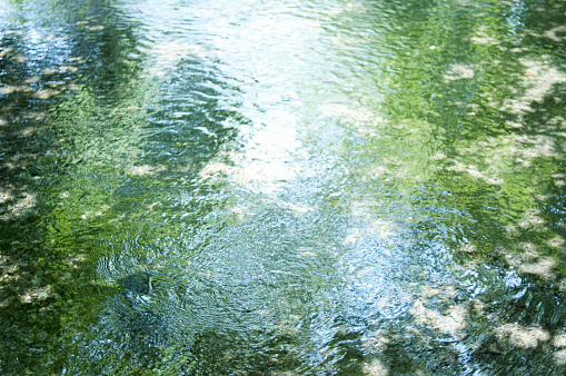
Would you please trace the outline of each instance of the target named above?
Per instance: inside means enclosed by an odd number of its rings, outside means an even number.
[[[227,185],[222,196],[234,202],[231,208],[214,209],[209,216],[229,222],[197,229],[192,240],[180,234],[181,239],[162,245],[161,254],[143,265],[130,254],[138,249],[129,251],[121,244],[117,260],[101,259],[108,280],[141,268],[157,273],[153,290],[147,300],[119,297],[122,303],[107,304],[106,311],[118,315],[133,304],[139,317],[129,319],[143,321],[146,306],[151,306],[151,315],[159,315],[171,330],[171,338],[159,329],[162,337],[143,339],[156,346],[173,342],[186,352],[203,346],[203,354],[212,356],[208,347],[215,342],[221,340],[227,353],[246,344],[256,356],[266,354],[254,369],[270,364],[285,369],[298,362],[292,367],[299,373],[331,373],[371,352],[383,340],[384,323],[407,314],[414,300],[408,284],[421,266],[409,251],[407,229],[381,217],[386,208],[366,206],[381,190],[366,191],[357,180],[365,164],[375,161],[351,159],[345,145],[363,145],[368,133],[377,139],[371,122],[380,118],[375,108],[360,105],[369,90],[358,61],[348,57],[350,46],[338,40],[336,26],[322,27],[322,20],[346,8],[322,6],[320,13],[306,17],[292,4],[241,7],[179,9],[160,2],[158,9],[127,8],[141,14],[137,21],[142,30],[150,30],[143,43],[147,77],[165,90],[157,107],[179,113],[170,121],[152,116],[162,129],[178,135],[177,121],[191,121],[191,111],[172,106],[198,109],[210,118],[210,100],[219,111],[247,120],[236,125],[234,146],[222,146],[192,180]],[[210,67],[193,68],[198,76],[185,81],[193,87],[188,92],[178,86],[187,79],[179,76],[187,60]],[[216,137],[206,121],[193,129]],[[171,192],[172,201],[182,200],[180,191],[177,198],[176,190]],[[435,257],[438,251],[444,250],[439,247]],[[438,279],[449,275],[444,266],[433,269],[443,275]],[[417,278],[429,279],[424,274]],[[102,333],[115,325],[122,324],[98,324]],[[246,363],[249,354],[230,356]]]

